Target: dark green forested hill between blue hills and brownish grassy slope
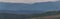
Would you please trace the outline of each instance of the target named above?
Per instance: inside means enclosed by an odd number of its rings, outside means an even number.
[[[58,14],[60,14],[60,11],[48,11],[42,14],[37,13],[37,14],[31,14],[31,15],[0,13],[0,19],[2,18],[4,19],[28,19],[28,18],[58,15]]]

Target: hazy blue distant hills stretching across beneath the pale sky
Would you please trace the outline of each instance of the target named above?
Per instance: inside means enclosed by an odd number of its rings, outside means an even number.
[[[31,13],[43,12],[47,10],[60,10],[60,1],[57,2],[41,2],[41,3],[35,3],[35,4],[25,4],[25,3],[6,3],[6,2],[0,2],[0,10],[12,10],[16,11],[16,13],[22,13],[20,10],[23,11],[31,11]],[[18,12],[17,12],[18,11]],[[23,12],[22,14],[29,14],[29,12]],[[38,12],[37,12],[38,11]]]

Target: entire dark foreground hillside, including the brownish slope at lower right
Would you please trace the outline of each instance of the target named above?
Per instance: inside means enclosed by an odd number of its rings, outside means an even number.
[[[60,17],[60,11],[48,11],[42,14],[11,14],[11,13],[0,13],[0,19],[50,19],[49,17],[57,18]]]

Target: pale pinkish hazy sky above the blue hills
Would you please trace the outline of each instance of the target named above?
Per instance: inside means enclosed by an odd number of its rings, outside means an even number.
[[[19,2],[19,3],[33,3],[33,2],[47,2],[57,0],[0,0],[0,2]]]

